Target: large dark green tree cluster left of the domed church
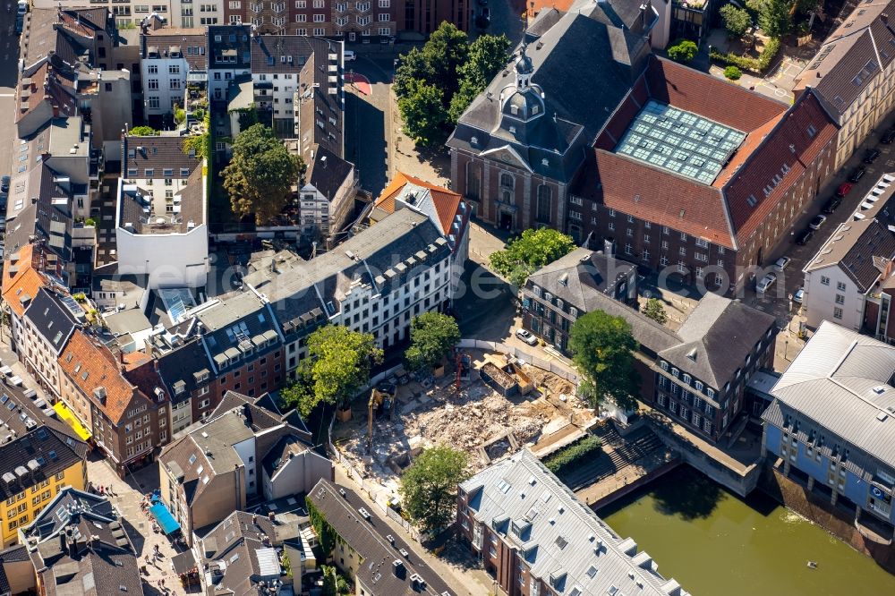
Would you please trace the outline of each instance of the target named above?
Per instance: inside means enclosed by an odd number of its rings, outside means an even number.
[[[504,36],[465,32],[444,21],[422,49],[401,56],[394,87],[405,132],[421,144],[438,142],[509,60]]]

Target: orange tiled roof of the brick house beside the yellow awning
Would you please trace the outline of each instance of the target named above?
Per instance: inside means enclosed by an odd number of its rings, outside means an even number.
[[[59,356],[59,366],[81,393],[118,423],[134,399],[141,396],[136,387],[124,379],[121,363],[105,345],[76,329]],[[105,403],[94,395],[97,387],[106,390]]]

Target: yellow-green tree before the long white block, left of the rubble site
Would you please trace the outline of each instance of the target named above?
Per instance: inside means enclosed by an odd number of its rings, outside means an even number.
[[[293,400],[304,417],[320,403],[344,405],[370,380],[371,365],[381,362],[382,355],[369,333],[341,325],[321,327],[308,336],[300,381],[289,387],[284,401]]]

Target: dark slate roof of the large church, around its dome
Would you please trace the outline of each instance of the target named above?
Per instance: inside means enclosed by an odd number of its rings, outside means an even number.
[[[527,55],[533,85],[546,92],[546,115],[526,124],[524,140],[501,126],[501,93],[514,89],[509,65],[473,99],[447,145],[473,153],[509,146],[537,174],[571,180],[584,159],[583,144],[596,138],[650,54],[648,38],[622,28],[618,15],[601,4],[608,3],[584,4],[558,19],[554,15],[550,21],[556,19],[555,24],[545,30],[547,17],[540,21],[537,43]]]

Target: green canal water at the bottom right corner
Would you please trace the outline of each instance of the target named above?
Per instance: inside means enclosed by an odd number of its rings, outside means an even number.
[[[895,594],[895,575],[873,559],[763,493],[738,498],[687,466],[597,513],[694,596]]]

